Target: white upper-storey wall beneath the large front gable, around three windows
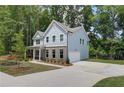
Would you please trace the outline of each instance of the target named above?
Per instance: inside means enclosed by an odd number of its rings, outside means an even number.
[[[63,41],[60,41],[60,34],[63,34]],[[52,41],[52,36],[56,36],[55,42]],[[49,42],[46,42],[46,37],[49,37]],[[44,45],[46,47],[52,47],[52,46],[67,46],[67,34],[65,31],[63,31],[62,28],[60,28],[55,23],[51,26],[49,31],[46,33],[44,37]]]

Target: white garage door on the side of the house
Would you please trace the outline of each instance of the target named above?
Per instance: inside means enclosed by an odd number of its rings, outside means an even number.
[[[71,63],[80,61],[80,53],[78,51],[69,52],[69,60]]]

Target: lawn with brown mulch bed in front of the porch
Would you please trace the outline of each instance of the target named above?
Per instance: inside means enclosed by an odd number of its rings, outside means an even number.
[[[53,66],[47,66],[47,65],[33,64],[29,62],[22,62],[19,67],[18,65],[15,65],[15,64],[12,64],[12,65],[0,64],[1,72],[7,73],[13,76],[26,75],[26,74],[43,72],[43,71],[54,70],[54,69],[59,69],[59,68],[53,67]]]

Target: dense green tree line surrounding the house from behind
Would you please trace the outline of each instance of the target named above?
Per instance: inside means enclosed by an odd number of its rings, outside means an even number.
[[[124,6],[95,5],[0,6],[0,55],[24,51],[53,19],[69,27],[84,25],[90,57],[124,59]]]

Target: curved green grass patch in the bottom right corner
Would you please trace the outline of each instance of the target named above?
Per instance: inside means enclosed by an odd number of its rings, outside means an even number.
[[[94,87],[124,87],[124,76],[103,79],[96,83]]]

